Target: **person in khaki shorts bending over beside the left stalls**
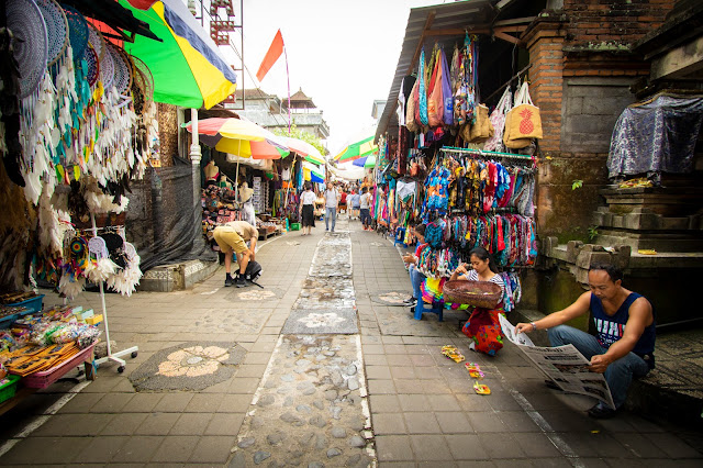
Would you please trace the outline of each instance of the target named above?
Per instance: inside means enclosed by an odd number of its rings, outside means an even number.
[[[247,286],[244,272],[249,260],[255,260],[256,241],[259,237],[259,232],[246,221],[231,221],[215,227],[213,236],[220,250],[224,254],[224,269],[226,271],[224,286],[234,285],[237,288],[244,288]],[[247,242],[249,247],[246,245]],[[239,264],[239,272],[236,278],[232,278],[232,252],[237,256],[237,264]]]

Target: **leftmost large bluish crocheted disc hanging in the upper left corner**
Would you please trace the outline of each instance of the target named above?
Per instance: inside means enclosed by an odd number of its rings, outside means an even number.
[[[42,11],[32,0],[8,0],[5,15],[14,41],[14,58],[20,67],[20,98],[38,86],[48,60],[48,37]]]

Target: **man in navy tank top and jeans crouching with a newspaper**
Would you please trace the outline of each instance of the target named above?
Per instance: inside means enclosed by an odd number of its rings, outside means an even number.
[[[591,371],[604,374],[615,409],[599,402],[592,417],[612,417],[625,403],[633,377],[655,367],[655,314],[643,296],[623,288],[623,272],[611,265],[592,266],[591,290],[568,308],[532,323],[518,323],[517,333],[548,328],[551,346],[572,344],[591,359]],[[591,311],[596,336],[563,323]]]

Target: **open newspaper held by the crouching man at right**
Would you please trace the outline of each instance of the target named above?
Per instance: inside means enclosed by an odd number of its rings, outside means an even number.
[[[515,327],[500,315],[503,334],[566,392],[581,393],[601,400],[615,409],[611,389],[602,374],[589,370],[590,360],[573,345],[540,347],[535,346],[525,333],[515,333]]]

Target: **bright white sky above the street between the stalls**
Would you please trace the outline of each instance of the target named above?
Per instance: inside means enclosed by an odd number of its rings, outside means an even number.
[[[373,100],[388,98],[410,9],[443,3],[443,0],[243,1],[244,59],[252,77],[280,29],[288,53],[291,94],[302,88],[323,111],[330,126],[326,143],[332,155],[373,123]],[[244,87],[255,87],[248,75]],[[264,77],[260,88],[281,98],[288,96],[284,56]]]

